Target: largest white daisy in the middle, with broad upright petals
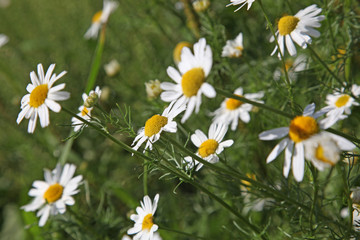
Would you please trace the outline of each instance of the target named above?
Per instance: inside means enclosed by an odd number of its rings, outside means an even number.
[[[181,119],[184,123],[194,111],[198,113],[201,105],[201,94],[214,98],[215,89],[207,82],[212,66],[212,51],[206,45],[205,38],[194,44],[194,54],[188,47],[181,51],[181,62],[178,64],[180,73],[173,67],[168,67],[167,73],[176,84],[163,82],[160,87],[164,90],[160,97],[165,102],[176,101],[176,105],[186,105],[186,111]]]

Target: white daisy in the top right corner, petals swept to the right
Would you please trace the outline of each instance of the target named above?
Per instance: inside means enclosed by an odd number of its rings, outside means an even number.
[[[320,21],[325,19],[324,15],[317,16],[321,12],[316,4],[313,4],[303,10],[300,10],[295,16],[284,16],[278,22],[278,30],[276,31],[276,38],[280,47],[280,52],[284,56],[284,44],[291,56],[296,55],[295,41],[300,47],[306,48],[307,44],[311,44],[311,37],[319,37],[320,32],[314,28],[320,27]],[[311,36],[311,37],[310,37]],[[270,42],[275,40],[271,36]],[[275,46],[271,55],[274,55],[278,50],[278,45]],[[278,53],[278,57],[281,55]]]

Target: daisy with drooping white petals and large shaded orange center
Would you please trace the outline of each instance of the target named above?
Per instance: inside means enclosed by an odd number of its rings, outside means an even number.
[[[304,109],[302,116],[291,120],[289,127],[275,128],[259,134],[261,140],[269,141],[284,138],[275,146],[266,159],[266,163],[272,162],[285,149],[285,162],[283,174],[288,177],[292,163],[292,171],[295,180],[301,182],[304,177],[304,141],[319,133],[323,126],[316,119],[324,114],[323,111],[315,111],[315,104],[309,104]]]

